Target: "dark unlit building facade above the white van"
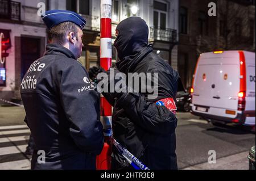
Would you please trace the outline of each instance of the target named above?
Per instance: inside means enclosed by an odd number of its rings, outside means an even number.
[[[210,2],[216,16],[209,16]],[[184,86],[192,85],[197,58],[214,50],[255,52],[254,0],[180,0],[178,70]]]

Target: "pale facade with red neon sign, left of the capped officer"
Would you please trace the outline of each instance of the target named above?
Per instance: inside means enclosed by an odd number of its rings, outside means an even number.
[[[30,64],[43,55],[46,27],[38,16],[40,1],[0,1],[0,33],[3,53],[0,62],[0,98],[19,99],[19,85]]]

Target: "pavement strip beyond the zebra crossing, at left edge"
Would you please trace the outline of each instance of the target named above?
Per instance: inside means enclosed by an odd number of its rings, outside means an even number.
[[[0,106],[0,125],[19,125],[25,124],[24,117],[25,117],[25,110],[24,107],[3,107]]]

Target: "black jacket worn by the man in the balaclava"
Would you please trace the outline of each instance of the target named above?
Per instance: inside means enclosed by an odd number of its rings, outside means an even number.
[[[126,62],[128,65],[121,68],[119,66],[119,70],[125,71],[124,73],[158,73],[158,96],[149,99],[148,92],[140,91],[123,94],[121,98],[115,100],[113,136],[148,168],[177,169],[175,154],[177,119],[173,112],[164,106],[156,105],[155,102],[165,98],[175,99],[181,83],[179,74],[154,54],[150,46],[143,48]],[[182,88],[180,84],[179,89]],[[115,148],[113,157],[115,169],[131,168]]]

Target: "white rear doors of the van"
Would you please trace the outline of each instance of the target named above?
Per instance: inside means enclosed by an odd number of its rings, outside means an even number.
[[[229,60],[225,61],[226,58]],[[239,91],[238,59],[201,57],[194,81],[194,105],[237,110]]]

